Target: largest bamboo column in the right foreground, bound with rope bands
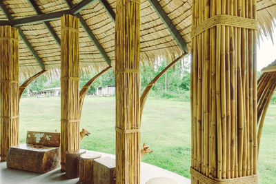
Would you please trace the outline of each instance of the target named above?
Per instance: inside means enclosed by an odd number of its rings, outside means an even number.
[[[193,1],[192,183],[258,183],[256,3]]]

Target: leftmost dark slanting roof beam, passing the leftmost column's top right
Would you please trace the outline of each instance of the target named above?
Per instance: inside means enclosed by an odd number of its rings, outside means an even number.
[[[12,17],[12,14],[10,14],[10,12],[8,12],[8,9],[4,6],[2,1],[0,1],[0,8],[1,8],[2,12],[5,14],[5,16],[7,17],[8,21],[11,22],[14,20],[14,18]],[[17,27],[17,26],[15,26],[15,27]],[[41,69],[45,70],[45,65],[44,65],[43,61],[41,60],[41,58],[39,57],[39,54],[37,54],[37,52],[34,50],[32,45],[30,44],[30,41],[28,41],[28,39],[26,38],[26,36],[23,33],[23,31],[21,30],[21,28],[17,27],[17,29],[18,29],[21,39],[23,40],[23,42],[25,43],[27,48],[30,50],[30,52],[34,56],[34,59],[37,61],[37,63],[39,63]]]

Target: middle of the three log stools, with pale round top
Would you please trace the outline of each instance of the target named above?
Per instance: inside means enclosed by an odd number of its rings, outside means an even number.
[[[101,158],[98,153],[81,154],[79,157],[79,183],[93,184],[93,161]]]

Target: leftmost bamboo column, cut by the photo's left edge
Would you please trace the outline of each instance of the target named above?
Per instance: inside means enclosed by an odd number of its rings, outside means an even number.
[[[0,160],[19,143],[19,38],[18,30],[0,26]]]

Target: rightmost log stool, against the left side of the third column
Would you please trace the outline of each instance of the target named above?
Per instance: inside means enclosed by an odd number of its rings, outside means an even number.
[[[110,157],[102,157],[93,161],[94,184],[116,183],[116,161]]]

